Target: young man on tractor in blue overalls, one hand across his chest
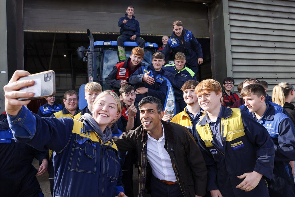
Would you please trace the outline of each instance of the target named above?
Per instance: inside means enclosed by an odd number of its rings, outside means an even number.
[[[164,77],[165,55],[161,52],[153,54],[152,65],[141,66],[130,76],[130,84],[134,85],[136,98],[135,104],[143,97],[153,96],[162,101],[166,98],[167,81]]]

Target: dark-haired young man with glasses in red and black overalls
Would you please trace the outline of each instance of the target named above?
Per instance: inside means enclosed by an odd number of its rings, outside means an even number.
[[[236,100],[240,100],[240,97],[232,92],[234,88],[235,80],[232,77],[226,77],[223,79],[223,87],[222,93],[225,95],[223,100],[223,105],[225,107],[232,107]]]

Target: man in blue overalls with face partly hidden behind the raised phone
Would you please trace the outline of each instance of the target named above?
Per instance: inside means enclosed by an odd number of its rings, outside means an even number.
[[[47,102],[42,105],[37,114],[41,117],[50,117],[53,113],[59,112],[63,106],[55,102],[55,95],[46,97]]]

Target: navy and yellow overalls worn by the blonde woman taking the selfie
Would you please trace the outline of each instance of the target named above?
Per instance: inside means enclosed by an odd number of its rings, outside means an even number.
[[[124,192],[116,144],[103,144],[87,121],[41,118],[24,106],[7,119],[17,141],[55,151],[54,196],[110,197]]]

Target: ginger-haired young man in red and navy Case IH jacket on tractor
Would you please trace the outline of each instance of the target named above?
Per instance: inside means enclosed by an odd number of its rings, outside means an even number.
[[[129,77],[140,66],[145,52],[140,47],[135,47],[131,51],[130,58],[124,62],[116,64],[109,76],[106,77],[106,83],[112,87],[112,91],[119,95],[119,88],[129,83]]]

